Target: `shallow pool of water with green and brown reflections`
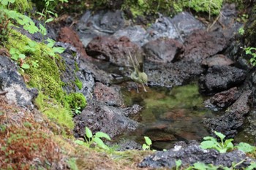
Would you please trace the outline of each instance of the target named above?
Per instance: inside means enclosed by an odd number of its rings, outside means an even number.
[[[153,147],[162,150],[173,147],[173,143],[180,140],[199,141],[203,136],[208,136],[203,118],[213,117],[214,114],[203,106],[203,97],[196,84],[147,90],[147,93],[123,90],[128,106],[140,104],[144,107],[140,115],[132,117],[141,123],[138,131],[123,138],[143,143],[143,136],[148,136]]]

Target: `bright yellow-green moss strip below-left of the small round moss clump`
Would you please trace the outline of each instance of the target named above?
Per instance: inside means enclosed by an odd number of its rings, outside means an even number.
[[[35,104],[39,111],[47,115],[50,120],[69,129],[74,128],[71,109],[62,107],[55,99],[39,93],[35,100]]]

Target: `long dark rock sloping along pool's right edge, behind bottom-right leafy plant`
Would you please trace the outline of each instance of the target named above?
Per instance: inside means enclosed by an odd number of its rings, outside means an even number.
[[[244,115],[249,112],[249,96],[251,94],[252,90],[242,93],[238,100],[227,109],[225,115],[203,121],[212,136],[215,136],[214,131],[225,134],[226,139],[236,136],[238,128],[244,123]]]

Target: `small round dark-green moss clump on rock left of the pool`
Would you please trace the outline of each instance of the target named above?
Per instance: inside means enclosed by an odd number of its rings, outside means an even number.
[[[70,93],[66,96],[67,103],[72,109],[80,107],[83,109],[86,107],[86,98],[82,93]]]

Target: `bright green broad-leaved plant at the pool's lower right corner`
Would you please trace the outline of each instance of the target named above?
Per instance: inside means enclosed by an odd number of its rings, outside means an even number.
[[[224,134],[217,131],[214,131],[214,134],[216,134],[219,137],[221,142],[218,142],[217,139],[215,139],[212,136],[206,136],[203,138],[205,141],[201,142],[200,147],[202,147],[203,149],[213,148],[221,153],[227,152],[227,150],[232,150],[234,148],[232,143],[233,139],[227,139],[224,142]]]

